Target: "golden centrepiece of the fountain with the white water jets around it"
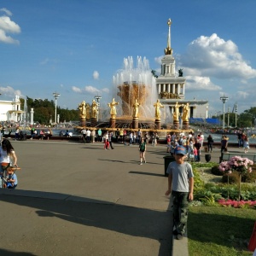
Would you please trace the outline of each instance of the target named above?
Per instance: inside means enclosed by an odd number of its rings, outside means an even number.
[[[120,102],[118,116],[131,119],[135,101],[140,103],[140,120],[154,120],[154,102],[157,99],[155,79],[149,68],[148,60],[137,56],[137,67],[133,67],[133,58],[124,59],[124,68],[113,76],[113,98]]]

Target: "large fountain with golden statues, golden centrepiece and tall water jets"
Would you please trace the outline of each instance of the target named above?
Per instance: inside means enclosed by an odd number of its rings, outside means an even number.
[[[99,113],[99,121],[93,125],[86,115],[86,122],[80,125],[109,131],[157,131],[162,137],[166,136],[166,132],[179,131],[173,129],[173,117],[168,107],[160,103],[155,78],[145,57],[137,56],[136,67],[131,56],[124,58],[123,68],[113,76],[112,96],[113,100],[107,108],[101,108],[104,117]]]

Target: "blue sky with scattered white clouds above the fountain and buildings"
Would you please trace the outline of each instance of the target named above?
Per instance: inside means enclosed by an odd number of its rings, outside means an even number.
[[[15,95],[76,109],[111,100],[124,58],[146,57],[160,74],[172,19],[176,72],[186,100],[208,100],[209,114],[256,107],[254,0],[1,0],[0,100]]]

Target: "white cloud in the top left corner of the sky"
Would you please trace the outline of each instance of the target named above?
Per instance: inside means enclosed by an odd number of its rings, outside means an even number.
[[[20,44],[18,40],[8,36],[8,33],[20,33],[20,26],[10,20],[8,16],[0,16],[0,42],[5,44]]]

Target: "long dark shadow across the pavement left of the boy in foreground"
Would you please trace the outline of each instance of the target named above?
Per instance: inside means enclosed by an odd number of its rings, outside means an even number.
[[[159,256],[172,255],[172,215],[169,211],[126,207],[79,196],[73,201],[71,195],[61,193],[22,190],[19,195],[19,190],[8,191],[0,195],[1,201],[32,207],[38,218],[61,218],[75,224],[153,239],[160,243]],[[22,196],[22,192],[26,196]],[[141,252],[139,247],[138,252]]]

